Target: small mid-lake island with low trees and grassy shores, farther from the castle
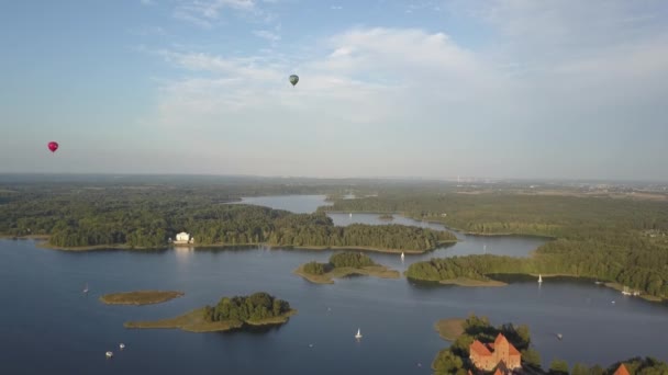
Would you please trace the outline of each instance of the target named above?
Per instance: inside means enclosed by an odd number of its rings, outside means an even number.
[[[371,258],[358,252],[339,252],[327,263],[309,262],[293,271],[294,274],[315,284],[334,284],[333,279],[349,275],[369,275],[381,279],[399,279],[400,273],[376,264]]]

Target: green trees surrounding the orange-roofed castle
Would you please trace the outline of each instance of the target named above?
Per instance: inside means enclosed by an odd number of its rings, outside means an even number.
[[[464,333],[458,337],[449,348],[443,349],[432,364],[435,374],[466,375],[468,371],[477,373],[471,366],[469,348],[474,340],[493,342],[499,333],[503,333],[508,341],[522,353],[522,367],[531,368],[534,374],[568,375],[568,364],[565,361],[554,360],[549,370],[542,368],[541,354],[531,348],[531,334],[526,325],[512,323],[493,327],[487,317],[477,317],[471,314],[464,322]],[[668,364],[653,357],[634,357],[612,364],[604,370],[600,365],[587,366],[580,363],[574,365],[571,375],[613,375],[624,364],[631,374],[659,375],[668,373]]]

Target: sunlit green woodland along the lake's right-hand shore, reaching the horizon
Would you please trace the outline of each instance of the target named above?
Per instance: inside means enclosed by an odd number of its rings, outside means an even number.
[[[402,212],[479,234],[555,237],[531,259],[463,257],[412,264],[409,276],[483,280],[490,273],[559,273],[668,297],[668,202],[511,194],[422,194],[336,201],[327,211]]]

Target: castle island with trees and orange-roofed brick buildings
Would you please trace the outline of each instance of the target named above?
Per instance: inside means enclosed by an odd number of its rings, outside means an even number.
[[[506,322],[494,327],[487,317],[478,317],[475,314],[466,319],[442,319],[434,327],[441,338],[452,341],[448,348],[438,352],[432,363],[432,368],[437,375],[489,374],[499,368],[535,375],[668,373],[667,363],[639,356],[616,362],[608,368],[581,363],[576,363],[569,368],[566,361],[554,359],[549,368],[545,370],[542,367],[541,354],[531,344],[531,334],[526,325],[515,326]],[[557,339],[555,336],[555,340]],[[620,371],[622,367],[623,370]]]

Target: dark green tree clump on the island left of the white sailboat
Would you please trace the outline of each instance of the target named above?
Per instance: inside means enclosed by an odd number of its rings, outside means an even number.
[[[223,297],[215,307],[204,307],[204,320],[240,320],[259,321],[280,317],[290,312],[290,304],[286,300],[258,292],[249,296]]]

